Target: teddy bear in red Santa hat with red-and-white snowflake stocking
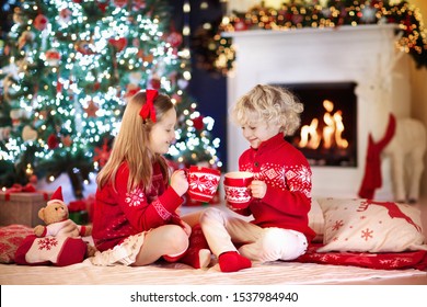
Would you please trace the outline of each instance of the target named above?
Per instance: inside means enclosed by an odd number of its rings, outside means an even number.
[[[69,218],[61,187],[39,209],[38,216],[46,225],[34,227],[34,235],[27,236],[18,248],[18,264],[65,266],[82,262],[95,253],[96,249],[82,239],[92,234],[92,227],[77,225]]]

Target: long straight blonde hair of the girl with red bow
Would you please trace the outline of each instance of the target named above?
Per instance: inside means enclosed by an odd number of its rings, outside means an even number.
[[[127,191],[130,192],[139,184],[142,184],[146,192],[151,189],[152,163],[159,162],[165,184],[169,182],[169,167],[165,159],[150,150],[149,136],[152,126],[151,120],[143,120],[139,115],[142,105],[146,104],[146,92],[136,93],[128,102],[123,114],[120,129],[114,140],[113,149],[108,161],[102,168],[96,178],[100,189],[111,182],[114,190],[117,170],[122,162],[127,161],[129,167],[129,180]],[[174,109],[171,99],[159,93],[154,102],[155,118],[160,122],[169,110]]]

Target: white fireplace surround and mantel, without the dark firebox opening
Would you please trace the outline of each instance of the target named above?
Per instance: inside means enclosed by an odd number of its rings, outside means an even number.
[[[235,69],[228,78],[229,107],[257,83],[357,83],[357,168],[312,167],[313,196],[357,196],[365,173],[368,134],[376,124],[369,104],[378,98],[370,89],[378,86],[377,76],[384,69],[384,61],[379,65],[383,55],[395,49],[394,30],[395,25],[384,24],[226,34],[233,38],[236,49]],[[396,116],[409,115],[407,61],[407,56],[399,60],[388,83]],[[229,123],[229,170],[238,168],[239,156],[247,147],[241,128]],[[390,161],[383,160],[382,173],[383,187],[376,197],[391,200]]]

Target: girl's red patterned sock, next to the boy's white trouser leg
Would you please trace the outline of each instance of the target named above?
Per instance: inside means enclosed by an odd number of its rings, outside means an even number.
[[[180,262],[195,269],[207,268],[210,262],[210,250],[199,224],[193,227],[188,240],[188,249],[184,257],[180,259]]]

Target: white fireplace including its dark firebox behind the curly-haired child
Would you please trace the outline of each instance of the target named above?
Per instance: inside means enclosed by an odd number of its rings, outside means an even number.
[[[393,67],[384,57],[395,50],[395,26],[358,25],[337,29],[298,29],[291,31],[251,30],[224,34],[233,38],[236,49],[234,71],[228,77],[228,105],[258,83],[278,84],[290,88],[304,103],[302,125],[292,138],[295,146],[301,140],[301,129],[312,137],[313,118],[316,129],[324,133],[323,116],[344,123],[345,129],[337,138],[347,141],[347,147],[326,149],[302,148],[312,166],[312,196],[357,197],[363,174],[368,136],[382,137],[374,102],[392,100],[394,114],[409,115],[409,66],[408,56],[400,58]],[[379,76],[389,71],[389,94],[373,91]],[[314,98],[313,98],[314,96]],[[380,107],[381,109],[381,107]],[[385,126],[383,127],[385,129]],[[330,127],[325,129],[326,140],[331,138]],[[334,134],[336,135],[336,134]],[[319,137],[319,136],[318,136]],[[308,140],[309,141],[309,140]],[[312,143],[315,143],[314,140]],[[238,168],[241,152],[249,147],[240,127],[228,126],[228,170]],[[376,191],[376,198],[391,200],[392,183],[390,161],[382,161],[382,187]]]

